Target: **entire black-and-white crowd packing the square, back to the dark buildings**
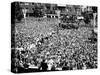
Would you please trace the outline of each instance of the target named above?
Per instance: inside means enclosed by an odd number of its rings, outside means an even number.
[[[15,24],[12,71],[97,68],[97,33],[92,21],[93,13],[22,18]]]

